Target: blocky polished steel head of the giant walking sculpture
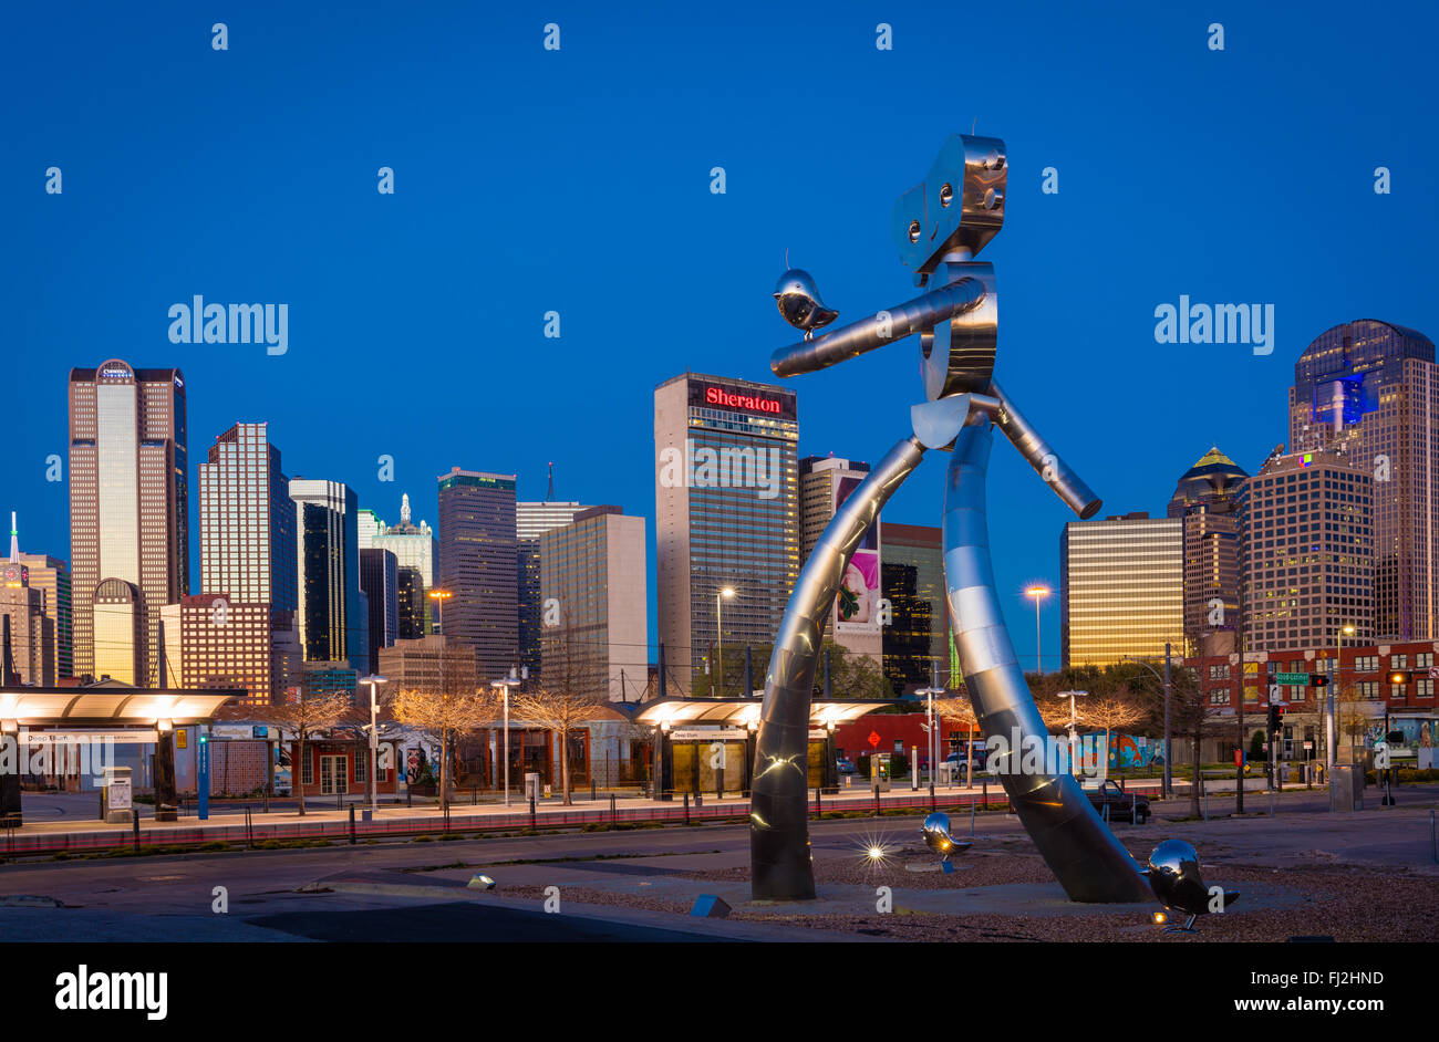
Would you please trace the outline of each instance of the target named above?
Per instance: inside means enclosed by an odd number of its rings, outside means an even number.
[[[895,200],[889,230],[921,286],[945,256],[979,254],[1004,227],[1007,174],[1003,141],[954,134],[925,178]]]

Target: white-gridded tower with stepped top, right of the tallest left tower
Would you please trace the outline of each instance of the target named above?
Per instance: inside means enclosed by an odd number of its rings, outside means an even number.
[[[222,627],[232,627],[219,647],[255,665],[245,674],[249,703],[282,701],[285,688],[296,683],[291,668],[299,641],[296,526],[291,483],[281,469],[279,448],[269,441],[269,427],[235,424],[216,437],[197,480],[200,588],[212,612],[217,612],[217,599],[223,602],[212,625],[223,619]],[[181,634],[191,637],[181,645],[186,658],[201,654],[201,645],[216,647],[214,635],[194,642],[200,607],[197,602],[181,612]],[[263,637],[253,622],[260,617],[269,618]],[[214,663],[196,668],[194,676],[212,677],[207,686],[217,686],[224,676]],[[171,686],[178,683],[170,678]]]

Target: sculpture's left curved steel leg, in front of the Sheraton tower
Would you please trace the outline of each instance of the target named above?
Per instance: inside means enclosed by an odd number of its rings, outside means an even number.
[[[814,898],[809,857],[809,727],[825,624],[850,556],[879,509],[921,458],[924,448],[918,440],[905,438],[849,494],[800,569],[780,621],[764,677],[750,795],[750,880],[757,901]]]

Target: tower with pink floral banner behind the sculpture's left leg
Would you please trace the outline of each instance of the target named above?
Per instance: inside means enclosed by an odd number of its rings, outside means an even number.
[[[833,456],[809,456],[800,460],[802,568],[835,512],[868,474],[868,463],[850,463]],[[829,638],[846,651],[873,658],[876,664],[884,655],[879,619],[879,599],[884,596],[879,563],[881,529],[882,525],[876,519],[850,558],[829,614]]]

